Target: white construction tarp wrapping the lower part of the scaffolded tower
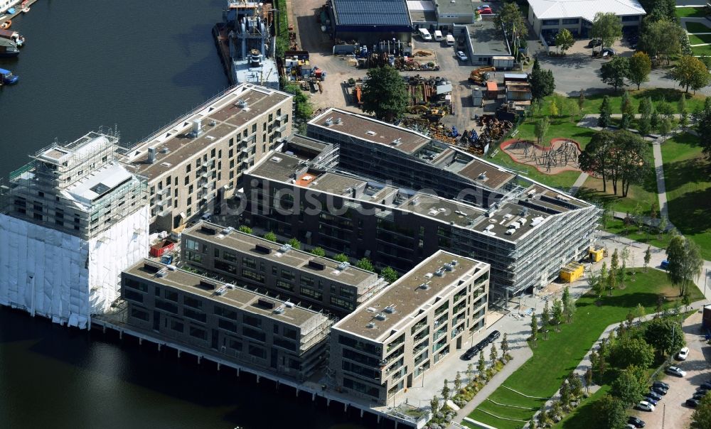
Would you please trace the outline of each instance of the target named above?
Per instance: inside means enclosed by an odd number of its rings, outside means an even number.
[[[85,241],[0,215],[0,305],[87,327],[118,296],[121,271],[148,252],[148,208]]]

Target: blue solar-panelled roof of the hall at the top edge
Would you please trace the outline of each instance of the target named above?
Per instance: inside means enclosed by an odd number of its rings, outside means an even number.
[[[343,26],[410,26],[405,0],[333,0],[333,8]]]

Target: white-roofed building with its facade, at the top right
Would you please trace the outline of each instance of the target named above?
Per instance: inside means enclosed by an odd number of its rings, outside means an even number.
[[[563,28],[575,37],[587,38],[597,13],[616,14],[623,28],[638,27],[646,14],[637,0],[528,0],[528,5],[528,22],[542,38]]]

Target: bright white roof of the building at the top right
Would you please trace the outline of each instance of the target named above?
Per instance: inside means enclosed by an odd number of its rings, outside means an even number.
[[[646,14],[637,0],[528,0],[528,4],[538,19],[584,18],[592,22],[598,12],[618,16]]]

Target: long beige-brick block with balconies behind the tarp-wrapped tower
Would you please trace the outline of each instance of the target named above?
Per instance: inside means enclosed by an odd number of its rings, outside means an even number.
[[[242,172],[291,132],[292,95],[240,84],[122,149],[119,161],[148,182],[151,231],[173,231],[220,207]]]

